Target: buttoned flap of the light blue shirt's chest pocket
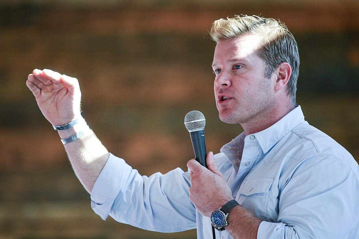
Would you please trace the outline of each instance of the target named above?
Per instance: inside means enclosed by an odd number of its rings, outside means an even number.
[[[250,196],[255,193],[266,193],[272,186],[274,178],[253,178],[248,179],[239,188],[239,193]]]

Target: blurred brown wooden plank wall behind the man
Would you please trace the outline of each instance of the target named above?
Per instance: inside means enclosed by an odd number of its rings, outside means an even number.
[[[279,18],[299,44],[297,103],[359,159],[359,2],[13,1],[0,3],[0,239],[196,238],[102,221],[59,136],[25,85],[33,69],[79,79],[83,116],[141,174],[186,170],[187,112],[206,117],[207,149],[242,132],[220,122],[208,29],[234,14]],[[340,173],[340,172],[338,172]]]

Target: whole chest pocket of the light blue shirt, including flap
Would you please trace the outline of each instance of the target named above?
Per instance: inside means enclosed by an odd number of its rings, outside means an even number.
[[[269,189],[274,178],[253,178],[246,180],[238,190],[237,201],[257,217],[266,219]]]

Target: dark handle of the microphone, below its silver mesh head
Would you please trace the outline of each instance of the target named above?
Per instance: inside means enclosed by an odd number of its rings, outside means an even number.
[[[193,151],[195,152],[196,160],[204,167],[207,168],[206,157],[206,140],[204,137],[204,130],[197,130],[190,132]]]

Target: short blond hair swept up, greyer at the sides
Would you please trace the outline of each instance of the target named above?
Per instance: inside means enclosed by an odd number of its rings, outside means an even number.
[[[282,63],[288,62],[292,74],[287,84],[287,93],[295,104],[297,79],[299,75],[298,44],[284,23],[273,18],[235,15],[233,18],[213,22],[209,31],[213,41],[231,39],[254,34],[261,37],[257,54],[266,62],[265,76],[269,78]]]

